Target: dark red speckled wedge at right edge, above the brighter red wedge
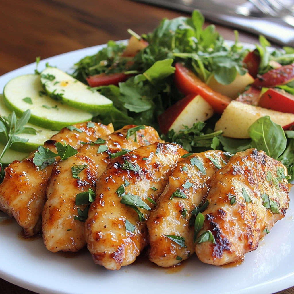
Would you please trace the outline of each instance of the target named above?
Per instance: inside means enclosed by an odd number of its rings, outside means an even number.
[[[277,85],[284,85],[294,80],[294,64],[284,65],[272,69],[267,73],[258,76],[251,85],[255,88],[273,88]]]

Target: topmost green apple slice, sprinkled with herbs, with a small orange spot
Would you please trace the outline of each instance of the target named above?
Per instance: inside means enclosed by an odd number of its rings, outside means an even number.
[[[56,67],[42,71],[41,82],[51,98],[69,106],[98,113],[112,107],[111,100]]]

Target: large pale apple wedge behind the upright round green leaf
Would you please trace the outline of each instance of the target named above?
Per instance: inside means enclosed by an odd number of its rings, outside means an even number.
[[[231,138],[250,138],[248,128],[262,116],[278,123],[284,130],[294,125],[294,114],[232,101],[216,122],[215,131],[222,130],[223,135]]]

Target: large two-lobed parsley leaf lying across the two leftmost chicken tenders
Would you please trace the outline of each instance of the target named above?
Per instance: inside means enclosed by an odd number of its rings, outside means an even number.
[[[43,169],[53,163],[56,156],[60,156],[61,160],[66,160],[67,158],[78,153],[78,151],[73,146],[66,144],[65,141],[64,145],[60,142],[57,142],[55,143],[55,146],[57,153],[54,153],[48,148],[44,148],[43,146],[39,146],[38,151],[35,152],[33,159],[34,164]]]

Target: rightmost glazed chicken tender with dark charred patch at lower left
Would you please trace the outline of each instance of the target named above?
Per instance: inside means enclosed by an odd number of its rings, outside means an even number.
[[[224,265],[255,250],[258,240],[289,207],[285,176],[285,166],[263,151],[248,149],[231,157],[211,182],[209,206],[203,212],[203,228],[195,243],[198,258]],[[209,238],[208,230],[215,240]]]

